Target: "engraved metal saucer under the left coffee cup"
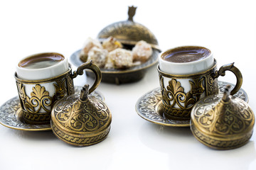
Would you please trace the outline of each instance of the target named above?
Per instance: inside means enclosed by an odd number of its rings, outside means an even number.
[[[81,86],[75,86],[75,94],[80,93]],[[90,96],[94,96],[102,101],[104,96],[97,91],[93,91]],[[51,130],[50,124],[47,125],[29,125],[24,123],[22,117],[23,111],[18,96],[9,99],[0,107],[0,123],[7,128],[26,131],[46,131]]]

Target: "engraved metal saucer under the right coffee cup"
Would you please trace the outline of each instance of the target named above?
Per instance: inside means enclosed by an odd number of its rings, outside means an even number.
[[[218,81],[219,86],[219,93],[223,94],[225,86],[230,84],[224,81]],[[230,84],[231,88],[235,85]],[[248,103],[248,96],[243,89],[240,89],[238,93],[233,95],[235,97],[241,98],[243,101]],[[148,120],[151,123],[156,123],[159,125],[165,126],[174,126],[174,127],[189,127],[190,120],[169,120],[164,117],[162,103],[161,103],[161,90],[160,87],[149,91],[148,93],[144,94],[136,103],[136,111],[139,116]]]

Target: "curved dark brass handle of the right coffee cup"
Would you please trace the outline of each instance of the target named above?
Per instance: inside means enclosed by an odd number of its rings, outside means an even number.
[[[237,79],[234,89],[230,91],[230,95],[234,95],[236,92],[239,91],[240,87],[242,86],[242,74],[240,70],[234,66],[234,62],[230,64],[225,64],[222,67],[220,67],[218,71],[215,71],[215,73],[213,74],[213,79],[218,78],[219,76],[225,76],[225,71],[227,70],[233,72]]]

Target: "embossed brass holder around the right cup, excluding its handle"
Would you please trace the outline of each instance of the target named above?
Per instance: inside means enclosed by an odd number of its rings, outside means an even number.
[[[194,104],[200,100],[202,94],[208,96],[218,93],[218,81],[211,77],[215,68],[204,74],[191,75],[187,77],[190,84],[190,90],[184,91],[184,88],[178,79],[184,79],[181,76],[172,76],[159,72],[160,86],[164,103],[164,113],[169,118],[190,119],[191,109]],[[164,79],[169,79],[168,84],[164,84]]]

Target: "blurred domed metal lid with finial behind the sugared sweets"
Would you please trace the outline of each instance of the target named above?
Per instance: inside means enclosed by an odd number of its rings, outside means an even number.
[[[128,20],[112,23],[103,28],[97,35],[97,38],[102,41],[112,36],[124,45],[135,45],[138,41],[144,40],[151,47],[160,50],[154,34],[148,28],[142,26],[142,24],[133,21],[136,9],[137,7],[129,6]]]

